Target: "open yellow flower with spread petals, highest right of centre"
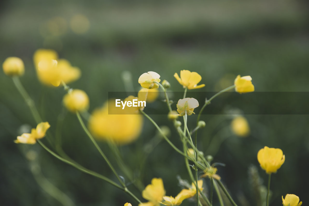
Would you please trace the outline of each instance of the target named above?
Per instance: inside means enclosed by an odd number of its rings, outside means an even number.
[[[202,77],[196,72],[191,72],[189,70],[181,70],[180,78],[177,73],[174,74],[174,77],[177,79],[179,84],[184,86],[184,88],[198,89],[205,87],[205,84],[197,86],[197,84],[201,81]]]

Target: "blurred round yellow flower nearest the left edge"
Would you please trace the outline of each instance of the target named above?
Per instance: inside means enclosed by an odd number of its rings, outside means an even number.
[[[8,57],[2,64],[4,74],[8,76],[21,76],[25,72],[23,60],[18,57]]]

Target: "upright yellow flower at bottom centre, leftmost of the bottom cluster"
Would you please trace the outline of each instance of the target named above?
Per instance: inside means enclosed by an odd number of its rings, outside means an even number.
[[[149,202],[139,204],[138,206],[141,206],[141,205],[159,206],[164,195],[165,195],[165,190],[164,190],[162,179],[153,178],[151,180],[151,184],[147,185],[146,188],[142,191],[143,198],[145,198]]]

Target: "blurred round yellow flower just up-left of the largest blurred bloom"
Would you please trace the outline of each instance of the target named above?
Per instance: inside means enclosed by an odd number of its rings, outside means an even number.
[[[89,107],[89,98],[83,90],[73,89],[63,97],[63,103],[71,112],[83,111]]]

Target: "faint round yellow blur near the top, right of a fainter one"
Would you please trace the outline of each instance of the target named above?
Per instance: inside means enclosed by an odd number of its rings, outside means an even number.
[[[76,34],[84,34],[90,28],[89,19],[84,15],[74,15],[70,20],[70,27]]]

